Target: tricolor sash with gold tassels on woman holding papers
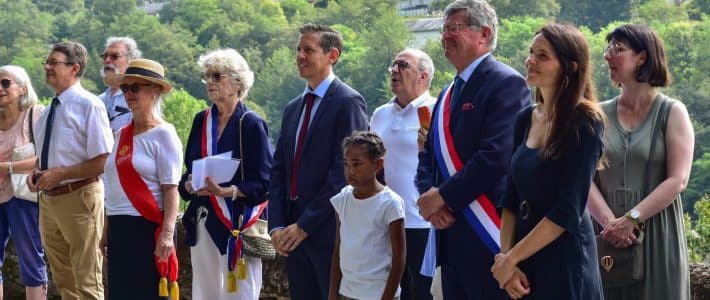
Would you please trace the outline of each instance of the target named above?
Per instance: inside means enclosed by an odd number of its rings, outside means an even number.
[[[205,118],[202,124],[202,157],[207,157],[217,154],[217,141],[219,140],[218,128],[219,118],[217,106],[212,105],[205,111]],[[240,133],[241,134],[241,133]],[[243,166],[241,166],[243,168]],[[242,178],[244,180],[244,178]],[[229,239],[227,240],[227,269],[229,270],[229,278],[227,282],[227,290],[229,292],[236,291],[236,279],[246,279],[246,261],[243,258],[242,244],[243,233],[249,226],[256,223],[261,213],[266,208],[267,202],[263,202],[257,206],[245,206],[244,214],[235,212],[234,200],[232,198],[223,198],[215,195],[210,195],[210,204],[219,218],[220,222],[230,231]],[[236,216],[236,218],[235,218]],[[235,267],[237,276],[234,276]]]

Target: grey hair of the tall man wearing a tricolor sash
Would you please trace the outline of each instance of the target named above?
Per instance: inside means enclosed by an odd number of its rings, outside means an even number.
[[[484,0],[456,0],[444,10],[444,15],[446,16],[444,20],[460,10],[466,11],[467,23],[471,26],[491,29],[491,40],[488,41],[488,49],[491,52],[495,50],[498,41],[498,16],[495,9]]]

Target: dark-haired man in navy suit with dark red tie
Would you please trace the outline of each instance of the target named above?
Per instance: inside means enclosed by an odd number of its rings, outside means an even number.
[[[345,185],[341,143],[367,130],[365,99],[333,74],[343,49],[328,26],[301,27],[296,63],[307,81],[284,109],[271,169],[269,227],[287,256],[291,299],[327,299],[335,243],[329,199]]]

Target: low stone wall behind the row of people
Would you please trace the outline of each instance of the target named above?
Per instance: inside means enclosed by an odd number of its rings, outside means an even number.
[[[190,249],[185,246],[183,241],[184,233],[182,226],[177,228],[178,232],[178,259],[180,261],[180,298],[191,300],[191,270],[190,267]],[[261,290],[261,299],[268,300],[285,300],[288,297],[288,283],[286,278],[284,258],[278,258],[272,261],[264,261],[263,283],[264,287]],[[17,265],[17,256],[15,256],[14,246],[12,241],[7,245],[5,255],[5,266],[3,268],[3,281],[5,290],[5,299],[24,299],[24,288],[20,283],[19,269]],[[690,265],[690,280],[691,289],[694,300],[710,300],[710,265],[708,264],[691,264]],[[48,299],[60,299],[56,289],[52,286],[50,275],[50,287]]]

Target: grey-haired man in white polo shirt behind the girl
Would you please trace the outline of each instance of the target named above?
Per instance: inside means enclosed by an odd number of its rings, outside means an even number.
[[[417,109],[427,107],[431,113],[436,102],[429,95],[434,64],[423,51],[405,49],[397,54],[389,71],[394,97],[375,110],[370,128],[382,138],[387,149],[385,182],[404,199],[407,264],[401,283],[402,300],[431,299],[431,278],[419,273],[431,225],[419,215],[414,176],[419,163]]]

